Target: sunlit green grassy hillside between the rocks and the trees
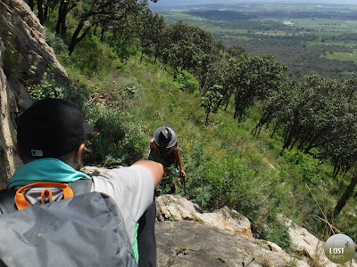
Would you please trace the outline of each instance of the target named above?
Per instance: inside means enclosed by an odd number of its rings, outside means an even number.
[[[177,193],[207,209],[231,206],[245,214],[253,235],[288,249],[278,214],[327,239],[323,222],[344,192],[350,177],[332,179],[330,166],[296,150],[281,153],[279,134],[270,129],[251,134],[259,114],[252,108],[237,125],[233,108],[219,110],[205,126],[199,94],[187,93],[173,78],[173,69],[139,53],[120,62],[112,49],[92,36],[69,57],[62,41],[47,31],[47,41],[76,87],[67,95],[85,110],[96,133],[87,141],[88,165],[130,164],[146,158],[154,130],[169,125],[177,131],[187,172],[187,191]],[[137,48],[136,48],[137,49]],[[79,97],[80,96],[80,97]],[[175,177],[166,177],[161,192]],[[350,199],[335,225],[356,238],[356,199]]]

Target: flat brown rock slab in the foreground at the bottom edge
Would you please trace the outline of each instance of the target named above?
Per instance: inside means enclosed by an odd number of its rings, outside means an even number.
[[[268,241],[193,221],[155,224],[157,266],[309,266]]]

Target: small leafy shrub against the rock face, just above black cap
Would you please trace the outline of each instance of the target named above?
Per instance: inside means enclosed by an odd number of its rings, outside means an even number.
[[[46,98],[63,98],[64,89],[56,85],[54,80],[54,69],[54,65],[48,67],[47,71],[44,73],[44,78],[41,83],[28,87],[29,95],[33,101]]]

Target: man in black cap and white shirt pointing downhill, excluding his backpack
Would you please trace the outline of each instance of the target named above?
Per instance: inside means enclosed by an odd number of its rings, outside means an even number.
[[[12,175],[8,188],[17,190],[35,182],[91,180],[90,191],[110,196],[119,206],[138,262],[137,221],[153,202],[154,188],[162,180],[163,167],[141,160],[93,177],[79,172],[85,136],[91,130],[90,125],[83,123],[79,106],[71,101],[35,102],[19,118],[15,147],[25,165]],[[29,190],[26,198],[35,205],[41,196],[37,196],[36,190]]]

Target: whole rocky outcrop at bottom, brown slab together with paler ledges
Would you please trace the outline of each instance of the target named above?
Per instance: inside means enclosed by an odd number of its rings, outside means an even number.
[[[186,198],[164,195],[156,198],[156,207],[158,266],[337,266],[325,256],[324,242],[283,215],[292,255],[253,239],[249,220],[227,206],[204,213]]]

